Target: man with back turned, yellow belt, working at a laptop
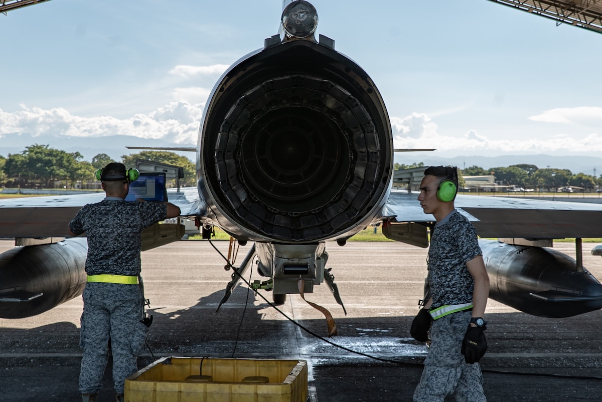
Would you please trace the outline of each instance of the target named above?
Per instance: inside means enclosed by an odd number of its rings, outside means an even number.
[[[126,202],[129,183],[138,178],[138,171],[123,164],[110,163],[96,176],[107,196],[84,205],[69,223],[70,235],[85,232],[88,238],[79,391],[82,401],[96,401],[110,340],[114,388],[117,401],[123,401],[125,379],[138,370],[137,356],[150,325],[142,321],[144,301],[138,285],[141,233],[158,221],[177,217],[180,209],[169,202]]]

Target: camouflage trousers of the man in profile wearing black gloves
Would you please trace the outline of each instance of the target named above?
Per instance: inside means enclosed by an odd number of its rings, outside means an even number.
[[[465,363],[460,353],[470,318],[470,311],[462,311],[433,321],[432,343],[414,402],[442,402],[450,394],[457,402],[486,401],[479,363]]]

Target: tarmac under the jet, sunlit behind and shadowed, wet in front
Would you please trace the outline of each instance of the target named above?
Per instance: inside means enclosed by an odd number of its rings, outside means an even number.
[[[228,242],[214,244],[227,255]],[[12,245],[0,241],[0,252]],[[602,259],[589,253],[594,246],[584,243],[584,265],[600,279]],[[554,246],[571,256],[573,247]],[[234,265],[248,249],[241,247]],[[426,276],[426,249],[353,241],[344,247],[329,242],[326,249],[347,315],[326,285],[306,299],[332,313],[338,327],[338,335],[329,339],[333,344],[306,332],[326,338],[326,320],[300,295],[289,295],[279,306],[281,314],[238,286],[216,314],[232,272],[224,270],[225,262],[208,241],[178,241],[143,252],[154,323],[150,351],[138,365],[163,356],[303,359],[311,402],[411,401],[426,356],[426,347],[409,336]],[[261,279],[254,271],[246,276]],[[269,292],[260,293],[272,300]],[[36,317],[0,319],[0,401],[81,400],[81,311],[77,297]],[[481,364],[488,401],[602,400],[601,318],[601,311],[532,317],[489,300],[489,350]],[[109,367],[99,400],[113,398]]]

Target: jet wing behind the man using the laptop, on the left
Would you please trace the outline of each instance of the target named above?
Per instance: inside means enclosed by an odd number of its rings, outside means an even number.
[[[167,189],[169,202],[179,206],[182,216],[199,216],[205,211],[196,187]],[[0,238],[67,237],[69,221],[88,203],[99,202],[105,193],[68,196],[23,197],[0,201]]]

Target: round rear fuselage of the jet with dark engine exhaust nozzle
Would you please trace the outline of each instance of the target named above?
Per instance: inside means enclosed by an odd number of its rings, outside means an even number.
[[[367,73],[330,46],[274,43],[232,66],[209,97],[199,190],[239,238],[349,237],[384,205],[393,168],[385,105]]]

